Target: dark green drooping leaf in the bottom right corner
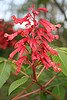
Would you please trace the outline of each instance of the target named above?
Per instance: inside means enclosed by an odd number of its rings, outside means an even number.
[[[64,100],[65,90],[62,86],[56,86],[53,88],[52,93],[55,94],[60,100]],[[57,98],[56,98],[57,99]]]

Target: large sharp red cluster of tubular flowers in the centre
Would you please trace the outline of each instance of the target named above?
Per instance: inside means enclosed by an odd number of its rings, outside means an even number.
[[[32,67],[35,70],[35,62],[39,61],[46,69],[52,67],[55,72],[61,71],[61,68],[58,67],[60,64],[52,61],[49,56],[49,54],[58,55],[58,53],[48,44],[58,39],[58,35],[54,35],[52,32],[57,31],[57,29],[60,28],[60,24],[53,25],[46,19],[37,19],[41,11],[48,12],[46,8],[34,10],[34,6],[32,6],[28,11],[28,14],[24,18],[12,16],[15,24],[23,24],[25,22],[25,29],[19,29],[11,35],[5,34],[8,40],[14,39],[19,34],[22,36],[22,39],[15,44],[15,50],[9,56],[10,59],[13,59],[13,57],[19,53],[18,60],[15,60],[17,73],[20,72],[21,66],[24,63],[30,64],[31,62],[32,65],[34,64]],[[31,52],[29,52],[27,46],[30,47]]]

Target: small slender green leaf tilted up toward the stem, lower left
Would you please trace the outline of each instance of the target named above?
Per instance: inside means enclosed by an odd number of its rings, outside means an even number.
[[[20,79],[14,81],[10,87],[9,87],[9,95],[11,92],[13,92],[16,88],[18,88],[20,85],[24,84],[28,80],[28,77],[23,76]]]

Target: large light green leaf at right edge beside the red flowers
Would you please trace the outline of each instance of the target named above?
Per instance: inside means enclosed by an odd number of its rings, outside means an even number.
[[[61,63],[61,68],[62,68],[62,72],[64,75],[67,76],[67,52],[64,49],[57,49],[58,51],[58,56],[52,56],[52,59],[55,62],[60,62]]]

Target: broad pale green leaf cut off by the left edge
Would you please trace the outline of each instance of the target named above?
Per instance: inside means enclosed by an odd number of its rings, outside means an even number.
[[[0,88],[1,88],[10,76],[11,66],[7,61],[4,61],[2,64],[0,64],[0,66],[1,66],[1,71],[0,71]]]

